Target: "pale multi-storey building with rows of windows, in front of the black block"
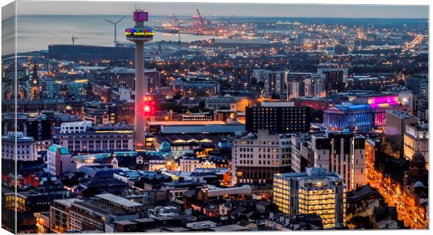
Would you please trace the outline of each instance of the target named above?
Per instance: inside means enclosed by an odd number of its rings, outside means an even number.
[[[235,138],[232,147],[234,183],[271,183],[273,175],[290,172],[289,135],[258,130]]]

